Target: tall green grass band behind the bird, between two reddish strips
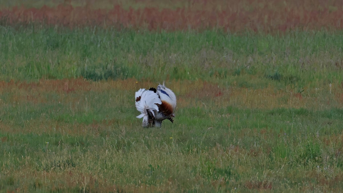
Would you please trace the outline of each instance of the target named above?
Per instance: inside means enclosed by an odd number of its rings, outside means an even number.
[[[272,36],[221,31],[136,33],[96,27],[68,30],[35,25],[5,26],[0,31],[0,79],[5,81],[200,78],[259,88],[270,79],[301,91],[308,84],[314,87],[343,80],[340,31]],[[254,77],[253,81],[247,77]]]

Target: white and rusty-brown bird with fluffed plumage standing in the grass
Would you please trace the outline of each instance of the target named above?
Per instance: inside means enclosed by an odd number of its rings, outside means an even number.
[[[139,89],[135,93],[135,98],[136,108],[141,112],[137,118],[143,118],[143,127],[161,127],[165,119],[174,122],[172,117],[175,117],[176,96],[172,90],[164,86],[164,82],[162,85],[159,84],[157,89]]]

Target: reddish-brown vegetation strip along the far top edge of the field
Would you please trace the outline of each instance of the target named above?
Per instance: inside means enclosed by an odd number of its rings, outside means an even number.
[[[117,29],[185,30],[223,29],[232,32],[246,30],[284,32],[293,29],[342,29],[343,1],[220,1],[193,0],[185,8],[158,9],[145,7],[113,9],[72,7],[69,3],[40,9],[14,7],[0,11],[1,23],[44,22],[49,25],[114,26]]]

